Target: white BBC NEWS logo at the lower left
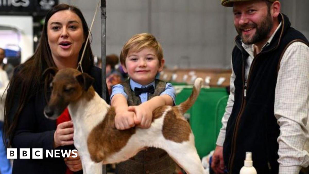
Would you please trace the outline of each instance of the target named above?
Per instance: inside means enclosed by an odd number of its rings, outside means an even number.
[[[72,153],[72,158],[77,157],[77,150],[46,150],[46,158],[60,158],[60,157],[69,157]],[[17,149],[8,148],[6,149],[6,158],[7,159],[17,159]],[[19,149],[19,159],[30,159],[30,149],[29,148],[20,148]],[[32,159],[43,159],[43,149],[33,148],[32,149]]]

